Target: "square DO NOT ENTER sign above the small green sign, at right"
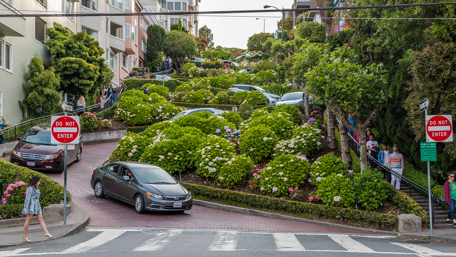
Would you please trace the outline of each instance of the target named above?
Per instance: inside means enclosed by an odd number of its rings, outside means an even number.
[[[452,142],[451,115],[426,115],[426,142]]]

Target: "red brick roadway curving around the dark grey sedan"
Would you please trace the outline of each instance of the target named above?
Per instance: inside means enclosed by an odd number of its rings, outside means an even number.
[[[192,229],[240,229],[255,231],[295,231],[370,233],[352,229],[322,226],[305,222],[280,220],[229,211],[221,211],[193,205],[183,214],[153,213],[137,214],[133,206],[105,197],[96,198],[90,186],[93,169],[109,157],[117,142],[84,146],[81,161],[67,168],[67,189],[73,202],[81,205],[90,214],[89,226],[138,226]],[[49,177],[63,184],[63,174],[48,173]]]

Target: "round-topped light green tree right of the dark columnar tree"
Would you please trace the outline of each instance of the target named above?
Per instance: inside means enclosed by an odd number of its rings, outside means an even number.
[[[167,31],[165,38],[165,52],[171,57],[174,68],[179,70],[185,61],[185,57],[195,55],[197,50],[197,42],[193,37],[181,31]]]

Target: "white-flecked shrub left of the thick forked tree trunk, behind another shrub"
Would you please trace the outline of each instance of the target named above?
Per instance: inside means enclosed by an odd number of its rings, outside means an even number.
[[[347,163],[342,161],[341,157],[336,157],[334,153],[329,152],[318,157],[310,168],[311,178],[309,182],[318,186],[326,177],[341,174],[342,177],[348,177]]]

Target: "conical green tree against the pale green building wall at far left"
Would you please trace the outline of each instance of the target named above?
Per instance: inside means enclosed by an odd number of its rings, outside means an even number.
[[[22,84],[26,98],[19,101],[19,106],[21,110],[31,109],[37,115],[46,116],[56,113],[59,108],[60,94],[56,89],[60,78],[54,73],[54,68],[45,70],[43,60],[38,57],[35,54],[27,66],[27,84]]]

